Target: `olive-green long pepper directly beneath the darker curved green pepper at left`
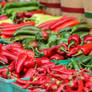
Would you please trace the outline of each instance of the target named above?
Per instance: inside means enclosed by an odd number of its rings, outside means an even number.
[[[22,41],[25,39],[31,39],[31,40],[35,40],[35,36],[31,36],[31,35],[18,35],[15,36],[13,38],[11,38],[11,41],[16,42],[16,41]]]

